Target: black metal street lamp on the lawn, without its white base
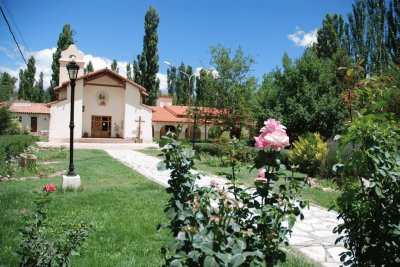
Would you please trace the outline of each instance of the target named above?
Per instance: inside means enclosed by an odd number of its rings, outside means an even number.
[[[75,104],[75,81],[78,77],[79,66],[75,61],[67,65],[69,79],[71,80],[71,119],[69,123],[69,171],[67,176],[76,176],[74,170],[74,104]]]

